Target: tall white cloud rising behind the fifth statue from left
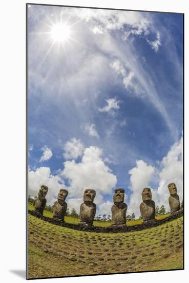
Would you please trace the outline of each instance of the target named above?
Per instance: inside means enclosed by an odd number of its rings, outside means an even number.
[[[136,167],[129,171],[130,177],[130,190],[132,191],[130,204],[128,206],[127,214],[134,213],[136,217],[140,215],[139,205],[142,202],[141,192],[142,189],[149,186],[155,168],[147,165],[143,160],[136,162]],[[151,189],[152,190],[152,189]],[[154,200],[154,191],[152,190],[152,199]]]

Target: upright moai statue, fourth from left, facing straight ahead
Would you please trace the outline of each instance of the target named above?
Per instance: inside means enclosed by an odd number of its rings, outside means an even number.
[[[125,225],[127,204],[124,203],[124,189],[115,189],[114,204],[112,206],[112,225]]]

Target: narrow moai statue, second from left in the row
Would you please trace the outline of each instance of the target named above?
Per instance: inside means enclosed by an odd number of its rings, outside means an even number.
[[[65,202],[68,196],[68,191],[66,189],[60,189],[58,193],[58,200],[54,203],[53,217],[65,221],[65,214],[67,210],[67,203]]]

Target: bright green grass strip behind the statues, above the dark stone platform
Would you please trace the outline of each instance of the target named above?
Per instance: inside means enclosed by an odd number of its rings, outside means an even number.
[[[29,204],[28,208],[30,210],[33,210],[34,206]],[[163,219],[163,218],[165,218],[165,217],[167,217],[169,215],[170,214],[156,216],[156,219],[158,219],[158,220],[159,219]],[[53,217],[53,213],[50,212],[50,211],[44,210],[44,216],[52,218]],[[73,217],[67,217],[67,216],[65,216],[65,221],[67,223],[70,223],[70,224],[78,224],[79,223],[79,219],[73,218]],[[143,222],[142,219],[136,219],[136,220],[132,220],[132,221],[127,221],[127,226],[141,224],[142,222]],[[94,226],[101,226],[101,227],[107,227],[107,226],[110,226],[111,224],[112,224],[112,222],[102,222],[102,221],[94,221],[93,222]]]

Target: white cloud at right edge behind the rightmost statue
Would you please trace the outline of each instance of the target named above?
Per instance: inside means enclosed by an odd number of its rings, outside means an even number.
[[[183,137],[163,157],[160,164],[159,178],[157,190],[159,204],[163,204],[167,210],[170,210],[168,201],[170,193],[167,188],[169,183],[176,183],[180,202],[183,200]]]

